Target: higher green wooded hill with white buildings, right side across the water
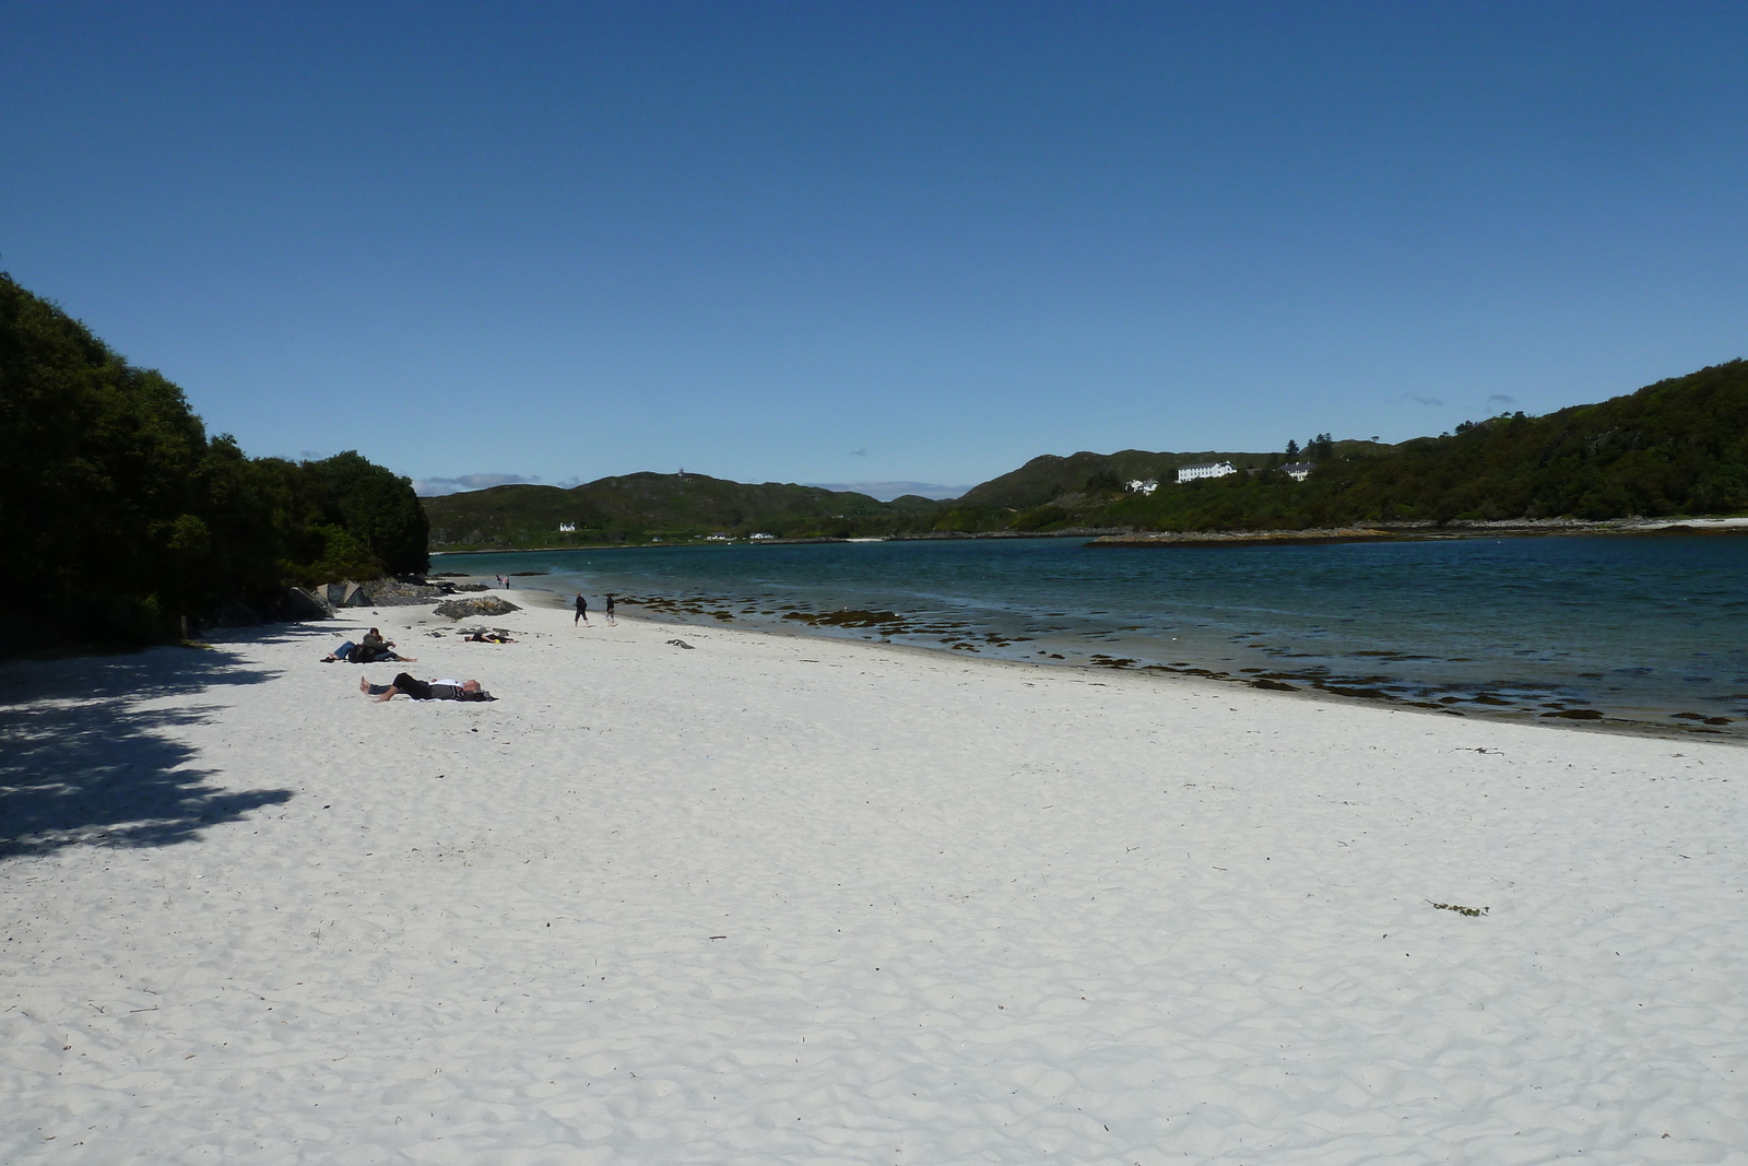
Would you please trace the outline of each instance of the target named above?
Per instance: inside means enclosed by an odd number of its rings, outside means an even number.
[[[1444,524],[1615,519],[1748,509],[1748,364],[1701,369],[1540,418],[1463,423],[1398,446],[1313,439],[1297,482],[1288,455],[1077,453],[1033,458],[967,491],[937,526],[961,531],[1304,530],[1367,521]],[[1173,470],[1232,462],[1239,474],[1176,484]],[[1154,479],[1150,495],[1126,484]]]

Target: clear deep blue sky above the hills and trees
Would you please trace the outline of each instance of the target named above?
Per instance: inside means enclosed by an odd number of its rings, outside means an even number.
[[[1743,3],[0,0],[0,267],[250,453],[965,484],[1748,355]]]

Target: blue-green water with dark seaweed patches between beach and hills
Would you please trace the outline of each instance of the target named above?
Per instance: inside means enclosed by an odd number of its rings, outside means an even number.
[[[612,591],[626,614],[675,622],[1748,731],[1743,535],[738,544],[453,554],[434,570],[545,572],[516,584],[580,589],[593,608]]]

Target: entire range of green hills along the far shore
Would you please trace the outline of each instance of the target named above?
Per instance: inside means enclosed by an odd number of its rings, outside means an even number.
[[[1276,467],[1316,463],[1306,481]],[[1176,484],[1180,465],[1239,474]],[[1127,482],[1155,481],[1152,495]],[[816,486],[746,486],[703,474],[631,474],[575,489],[498,486],[425,498],[434,549],[582,545],[703,537],[1302,530],[1367,521],[1610,519],[1748,510],[1748,365],[1741,360],[1636,393],[1531,418],[1460,425],[1398,446],[1308,442],[1281,453],[1045,455],[961,498],[876,502]],[[577,531],[559,535],[559,523]]]

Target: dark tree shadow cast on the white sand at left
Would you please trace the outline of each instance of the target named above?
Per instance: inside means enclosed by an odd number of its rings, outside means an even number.
[[[260,629],[264,638],[273,636]],[[154,649],[0,668],[0,858],[65,846],[170,846],[218,822],[285,802],[292,790],[208,783],[171,725],[208,720],[215,704],[136,708],[276,673],[224,649]]]

